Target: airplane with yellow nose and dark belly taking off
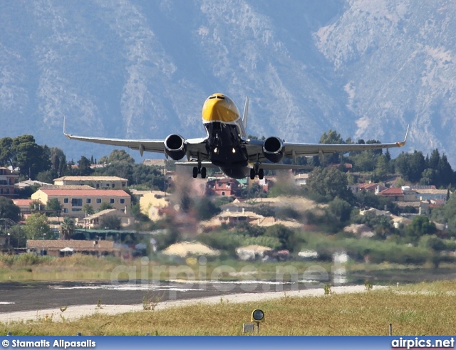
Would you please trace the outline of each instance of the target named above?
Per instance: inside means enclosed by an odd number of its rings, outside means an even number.
[[[309,157],[335,152],[364,151],[367,149],[383,149],[403,147],[407,141],[407,132],[403,142],[389,144],[304,144],[284,142],[275,136],[266,139],[252,139],[247,135],[247,114],[249,112],[249,97],[246,98],[244,114],[241,115],[233,100],[222,93],[214,93],[207,97],[202,107],[202,124],[206,137],[185,139],[180,134],[170,134],[164,140],[153,139],[110,139],[101,137],[75,136],[66,133],[63,120],[63,134],[68,139],[76,139],[98,144],[130,147],[142,154],[156,152],[165,154],[177,165],[192,166],[193,177],[198,174],[206,177],[206,168],[219,168],[224,174],[234,179],[264,178],[265,170],[274,169],[309,169],[311,166],[280,164],[284,157]],[[187,157],[187,161],[179,161]]]

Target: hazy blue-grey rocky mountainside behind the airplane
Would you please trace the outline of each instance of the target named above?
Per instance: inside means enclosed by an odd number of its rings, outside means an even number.
[[[406,150],[456,164],[455,14],[451,1],[1,2],[0,137],[99,158],[114,147],[66,139],[64,116],[72,134],[199,137],[202,103],[224,92],[240,110],[249,96],[251,134],[393,142],[410,123]]]

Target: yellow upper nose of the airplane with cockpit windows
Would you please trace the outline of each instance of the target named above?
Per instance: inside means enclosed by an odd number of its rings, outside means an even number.
[[[235,122],[239,119],[239,110],[229,97],[214,94],[202,106],[203,122]]]

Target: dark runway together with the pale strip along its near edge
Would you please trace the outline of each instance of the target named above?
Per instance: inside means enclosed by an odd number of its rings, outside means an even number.
[[[255,283],[253,283],[255,282]],[[268,287],[265,287],[268,286]],[[259,303],[282,297],[323,296],[321,287],[304,283],[279,284],[278,282],[226,282],[208,283],[204,288],[199,283],[162,282],[160,285],[125,283],[117,286],[99,283],[33,283],[0,285],[0,322],[36,322],[51,319],[53,322],[70,321],[93,314],[121,314],[144,311],[142,298],[157,293],[163,299],[155,310],[182,307],[191,304],[218,304],[221,302]],[[250,292],[246,292],[250,288]],[[374,286],[374,289],[384,287]],[[227,290],[229,289],[229,290]],[[265,292],[265,290],[269,290]],[[366,292],[364,285],[331,287],[333,292]],[[6,292],[6,293],[4,293]],[[161,294],[158,294],[161,293]],[[100,302],[98,302],[100,300]],[[62,309],[64,311],[62,312]],[[148,311],[150,312],[150,311]]]

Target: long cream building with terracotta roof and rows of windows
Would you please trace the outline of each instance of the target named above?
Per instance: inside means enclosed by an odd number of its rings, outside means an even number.
[[[88,204],[94,211],[98,211],[102,203],[108,203],[117,209],[120,214],[130,215],[131,198],[123,190],[101,189],[38,189],[31,195],[35,201],[44,205],[53,198],[57,198],[63,206],[62,216],[83,217],[83,206]]]

